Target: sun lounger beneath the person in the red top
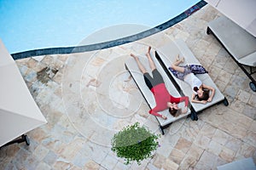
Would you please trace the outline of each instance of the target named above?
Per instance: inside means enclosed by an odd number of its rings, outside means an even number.
[[[158,62],[158,60],[154,57],[153,53],[151,54],[151,56],[152,56],[152,59],[154,60],[154,63],[156,65],[156,67],[157,67],[157,70],[160,72],[160,74],[164,78],[164,81],[166,83],[166,88],[168,89],[169,93],[172,94],[172,96],[174,96],[174,97],[180,97],[180,94],[177,92],[177,89],[174,87],[174,85],[170,81],[169,77],[167,77],[166,72],[163,70],[163,68],[161,67],[161,65]],[[151,74],[151,70],[150,70],[148,59],[147,59],[146,55],[145,54],[139,55],[139,59],[143,63],[144,67],[147,69],[149,74]],[[134,59],[132,59],[132,58],[127,59],[125,61],[125,68],[126,68],[127,71],[130,72],[131,77],[136,82],[137,87],[139,88],[139,90],[143,94],[144,99],[147,101],[149,108],[153,109],[154,106],[155,106],[154,94],[152,94],[152,92],[149,90],[149,88],[147,87],[146,83],[144,82],[143,74],[139,71],[136,61]],[[183,107],[184,106],[184,102],[181,102],[178,105],[179,105],[179,107]],[[159,116],[155,116],[156,120],[160,124],[160,131],[161,131],[162,134],[164,134],[164,129],[166,127],[168,127],[172,122],[177,121],[178,119],[180,119],[180,118],[182,118],[184,116],[189,116],[190,110],[188,108],[188,112],[187,113],[181,114],[181,115],[179,115],[177,117],[172,116],[169,113],[168,110],[160,111],[159,113],[167,117],[167,119],[164,120],[164,119],[162,119]]]

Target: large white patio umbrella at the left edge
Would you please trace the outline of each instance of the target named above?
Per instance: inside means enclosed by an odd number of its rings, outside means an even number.
[[[0,39],[0,146],[46,123]]]

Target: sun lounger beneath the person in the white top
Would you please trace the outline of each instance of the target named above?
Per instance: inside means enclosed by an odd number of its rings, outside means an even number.
[[[189,99],[191,99],[193,91],[189,84],[175,77],[168,69],[172,62],[175,61],[177,54],[179,54],[179,56],[181,57],[184,57],[185,60],[183,65],[201,65],[198,59],[195,58],[195,55],[192,54],[188,46],[182,40],[169,42],[166,43],[164,46],[158,48],[156,51],[156,58],[160,60],[160,63],[168,72],[168,76],[170,77],[172,82],[176,84],[177,89],[180,90],[182,94],[189,96]],[[209,106],[218,104],[221,101],[224,102],[224,105],[229,105],[228,100],[225,99],[224,95],[219,91],[218,87],[215,85],[215,83],[212,81],[212,78],[207,73],[197,74],[196,76],[205,84],[212,86],[212,88],[215,88],[215,95],[212,99],[212,102],[207,104],[190,103],[192,106],[192,108],[190,108],[191,111],[199,113],[200,111],[207,109]]]

